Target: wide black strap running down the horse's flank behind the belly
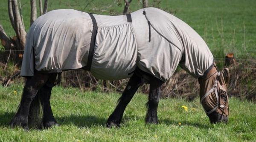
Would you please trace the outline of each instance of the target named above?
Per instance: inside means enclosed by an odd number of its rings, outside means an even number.
[[[94,52],[94,47],[95,47],[95,40],[96,40],[98,25],[97,25],[96,19],[94,18],[93,14],[89,13],[89,15],[93,21],[93,32],[92,32],[92,36],[91,36],[90,50],[89,50],[89,54],[88,54],[87,65],[85,67],[83,67],[83,69],[90,71],[90,67],[92,65],[92,60],[93,60],[93,52]]]

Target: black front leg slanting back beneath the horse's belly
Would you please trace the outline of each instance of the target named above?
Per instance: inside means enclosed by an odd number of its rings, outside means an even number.
[[[142,79],[137,75],[133,75],[128,81],[127,86],[125,87],[122,96],[119,98],[119,103],[116,106],[116,109],[109,116],[107,121],[107,126],[120,126],[120,122],[122,120],[123,113],[125,111],[126,106],[131,101],[131,98],[134,96],[137,89],[142,85]]]

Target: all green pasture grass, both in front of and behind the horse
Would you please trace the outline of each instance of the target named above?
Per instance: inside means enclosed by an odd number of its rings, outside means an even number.
[[[49,0],[48,11],[73,8],[96,14],[122,14],[123,0],[90,1]],[[28,31],[30,3],[21,0],[21,4]],[[166,10],[188,23],[207,42],[217,61],[228,52],[233,52],[238,61],[256,58],[254,0],[148,0],[148,5]],[[140,0],[133,0],[130,11],[141,7]],[[0,24],[9,36],[15,35],[9,22],[7,1],[0,3]],[[229,123],[213,125],[199,98],[193,102],[165,98],[158,107],[160,124],[145,125],[147,95],[137,93],[125,110],[121,128],[109,129],[105,124],[120,94],[81,92],[61,86],[53,88],[51,99],[53,113],[61,126],[30,131],[10,128],[22,90],[20,82],[7,88],[0,86],[0,141],[256,141],[256,104],[247,100],[230,97]],[[182,106],[187,106],[188,111]]]

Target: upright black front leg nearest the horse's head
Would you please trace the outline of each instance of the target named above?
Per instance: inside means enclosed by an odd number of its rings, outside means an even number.
[[[158,123],[157,119],[157,107],[161,93],[161,85],[163,84],[157,78],[151,77],[150,80],[150,88],[149,88],[149,95],[148,95],[148,112],[146,115],[146,123]]]

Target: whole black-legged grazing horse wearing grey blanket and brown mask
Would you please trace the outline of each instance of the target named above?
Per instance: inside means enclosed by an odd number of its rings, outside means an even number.
[[[126,106],[142,84],[150,84],[146,123],[158,123],[160,88],[180,65],[200,84],[211,123],[227,122],[229,70],[217,71],[207,44],[189,25],[157,8],[102,16],[72,9],[38,17],[26,39],[21,76],[27,77],[11,126],[28,124],[42,105],[42,126],[58,125],[50,95],[65,70],[89,70],[96,78],[130,78],[107,126],[119,126]],[[58,75],[58,79],[56,80]]]

